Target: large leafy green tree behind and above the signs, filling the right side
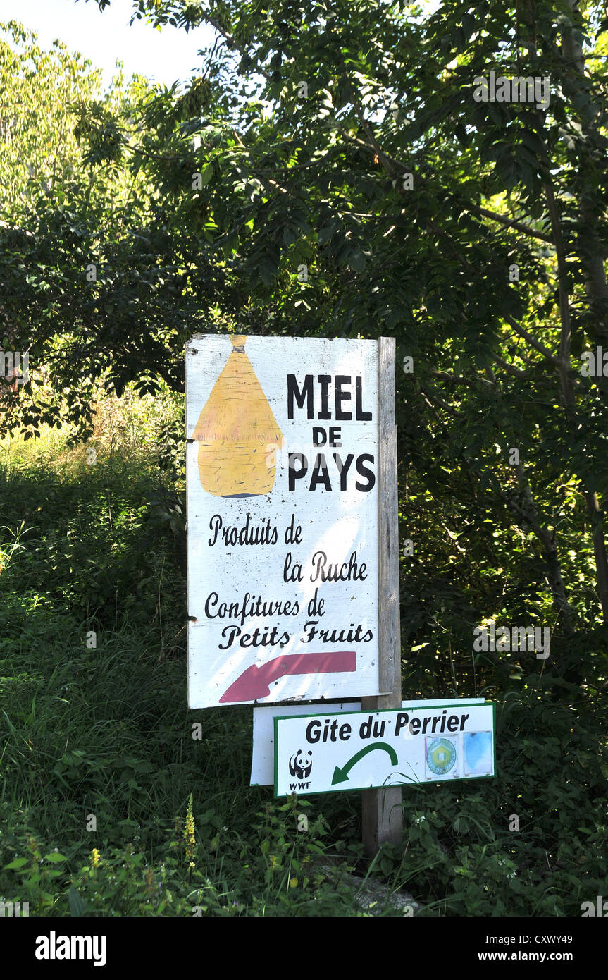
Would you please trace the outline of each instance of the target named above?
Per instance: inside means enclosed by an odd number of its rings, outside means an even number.
[[[71,301],[81,267],[63,226],[61,276],[42,289],[13,272],[12,315],[25,328],[23,299],[40,316],[52,301],[91,372],[108,367],[100,347],[111,356],[118,387],[156,372],[179,386],[183,341],[202,327],[394,333],[414,366],[398,383],[402,479],[418,505],[432,494],[418,531],[445,560],[431,603],[410,564],[406,639],[446,602],[463,644],[480,614],[550,616],[565,676],[597,684],[607,382],[580,358],[603,342],[608,309],[599,8],[138,0],[134,16],[208,23],[217,38],[186,92],[110,116],[81,107],[90,165],[137,172],[147,210],[117,240],[89,225],[113,270],[94,316]],[[491,72],[548,78],[548,105],[477,101]],[[36,221],[30,264],[53,230]],[[463,534],[491,588],[450,567]]]

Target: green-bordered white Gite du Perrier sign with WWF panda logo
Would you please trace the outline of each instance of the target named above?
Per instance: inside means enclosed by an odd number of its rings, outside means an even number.
[[[274,795],[495,775],[493,704],[274,719]]]

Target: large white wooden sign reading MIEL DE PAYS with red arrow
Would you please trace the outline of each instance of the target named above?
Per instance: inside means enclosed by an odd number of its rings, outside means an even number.
[[[190,708],[373,697],[378,344],[186,347]]]

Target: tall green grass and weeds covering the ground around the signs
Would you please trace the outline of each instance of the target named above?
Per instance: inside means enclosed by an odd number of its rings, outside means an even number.
[[[370,914],[327,870],[365,870],[359,794],[273,801],[249,787],[251,708],[187,709],[183,452],[168,392],[100,396],[87,445],[0,442],[0,901]],[[419,914],[572,915],[604,894],[605,699],[535,683],[497,698],[495,780],[404,789],[403,845],[372,870]]]

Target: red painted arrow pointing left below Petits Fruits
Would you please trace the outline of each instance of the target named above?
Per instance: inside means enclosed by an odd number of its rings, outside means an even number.
[[[285,654],[273,661],[256,663],[244,670],[219,699],[224,705],[234,701],[257,701],[270,694],[270,683],[285,674],[351,673],[356,669],[354,650],[335,650],[324,654]]]

